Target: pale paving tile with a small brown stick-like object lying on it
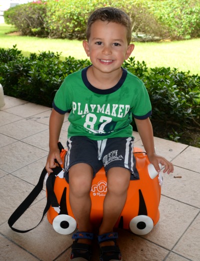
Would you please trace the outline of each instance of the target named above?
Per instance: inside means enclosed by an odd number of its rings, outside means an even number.
[[[174,178],[174,176],[181,176],[181,178]],[[163,175],[161,193],[175,200],[200,208],[199,184],[199,173],[174,166],[172,174]]]

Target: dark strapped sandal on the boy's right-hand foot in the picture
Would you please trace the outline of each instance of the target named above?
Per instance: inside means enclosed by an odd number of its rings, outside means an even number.
[[[100,261],[122,261],[120,249],[118,245],[116,245],[116,238],[118,238],[118,234],[114,232],[98,235],[98,243],[114,241],[114,245],[100,247]]]

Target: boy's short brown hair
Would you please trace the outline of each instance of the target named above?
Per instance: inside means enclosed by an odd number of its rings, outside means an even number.
[[[130,44],[131,41],[131,22],[130,18],[126,13],[122,10],[112,7],[105,7],[100,8],[94,11],[88,21],[87,21],[87,29],[86,29],[86,39],[89,40],[90,32],[91,32],[91,25],[96,22],[97,20],[107,21],[107,23],[112,22],[116,24],[120,24],[124,26],[127,30],[127,43]]]

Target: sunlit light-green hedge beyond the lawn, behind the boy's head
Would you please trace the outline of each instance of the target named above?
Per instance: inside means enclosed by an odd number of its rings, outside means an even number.
[[[4,20],[23,35],[84,39],[88,16],[105,6],[130,16],[133,40],[200,37],[198,0],[39,0],[8,9]]]

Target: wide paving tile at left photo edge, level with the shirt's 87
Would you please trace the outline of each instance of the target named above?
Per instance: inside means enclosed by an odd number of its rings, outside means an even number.
[[[46,130],[48,126],[28,119],[10,123],[0,127],[0,133],[21,140],[25,137]]]

